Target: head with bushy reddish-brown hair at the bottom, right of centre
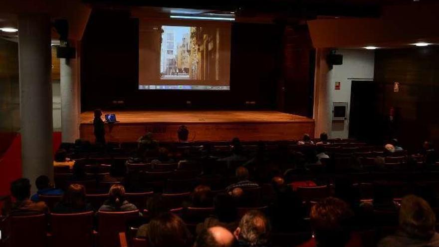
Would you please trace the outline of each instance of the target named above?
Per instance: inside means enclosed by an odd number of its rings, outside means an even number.
[[[350,239],[353,212],[344,201],[328,197],[311,208],[317,246],[344,247]]]

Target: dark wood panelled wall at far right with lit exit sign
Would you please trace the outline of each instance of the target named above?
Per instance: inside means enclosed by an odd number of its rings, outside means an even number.
[[[416,150],[425,140],[439,144],[439,48],[377,50],[375,81],[380,84],[381,114],[387,136]],[[399,82],[399,92],[394,92]],[[391,108],[395,120],[389,121]]]

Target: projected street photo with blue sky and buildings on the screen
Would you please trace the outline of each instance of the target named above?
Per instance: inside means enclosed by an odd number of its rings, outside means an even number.
[[[162,26],[160,79],[218,80],[219,30]]]

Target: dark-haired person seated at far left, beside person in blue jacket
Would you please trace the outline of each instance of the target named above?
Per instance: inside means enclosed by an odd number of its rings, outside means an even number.
[[[10,193],[15,202],[10,208],[11,215],[26,215],[48,213],[47,206],[44,202],[32,202],[30,197],[30,183],[28,179],[20,178],[10,184]]]

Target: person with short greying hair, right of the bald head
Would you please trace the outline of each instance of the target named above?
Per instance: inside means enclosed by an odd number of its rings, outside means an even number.
[[[248,211],[239,222],[233,235],[239,247],[264,247],[268,244],[270,224],[262,212]]]

